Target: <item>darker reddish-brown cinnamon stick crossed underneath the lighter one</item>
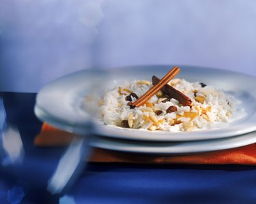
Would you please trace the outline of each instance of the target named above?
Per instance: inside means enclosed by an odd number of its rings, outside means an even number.
[[[153,85],[158,84],[158,82],[160,82],[160,79],[158,79],[155,75],[152,77],[152,83]],[[192,101],[190,98],[188,98],[186,95],[184,95],[182,92],[180,92],[179,90],[173,88],[173,86],[170,86],[169,84],[165,84],[165,86],[163,86],[161,88],[162,92],[164,92],[166,95],[168,95],[169,97],[176,99],[177,101],[180,102],[180,104],[184,105],[184,106],[191,106],[192,105]]]

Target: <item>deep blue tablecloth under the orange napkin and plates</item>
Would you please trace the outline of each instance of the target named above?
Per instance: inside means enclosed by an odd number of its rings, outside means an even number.
[[[0,203],[256,203],[256,167],[89,163],[65,194],[46,190],[66,148],[36,148],[35,94],[2,92],[23,141],[23,162],[1,165]]]

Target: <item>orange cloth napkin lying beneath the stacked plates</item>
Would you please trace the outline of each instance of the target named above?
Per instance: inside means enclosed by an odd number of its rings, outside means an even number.
[[[35,137],[34,144],[42,147],[66,146],[74,137],[80,136],[61,131],[44,123],[42,131]],[[95,148],[89,161],[141,164],[256,165],[256,143],[240,148],[186,156],[147,156]]]

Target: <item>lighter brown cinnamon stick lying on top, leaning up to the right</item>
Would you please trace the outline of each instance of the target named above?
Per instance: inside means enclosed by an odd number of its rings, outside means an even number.
[[[139,107],[147,102],[148,99],[153,97],[165,84],[167,84],[169,81],[171,81],[175,75],[177,75],[180,72],[179,67],[173,67],[171,71],[169,71],[155,86],[150,88],[147,92],[145,92],[144,95],[142,95],[137,101],[134,101],[134,103],[130,103],[131,107]]]

